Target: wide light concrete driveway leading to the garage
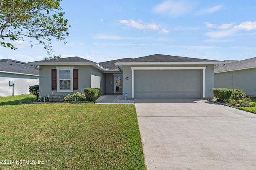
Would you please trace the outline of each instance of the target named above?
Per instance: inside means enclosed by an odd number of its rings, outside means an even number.
[[[134,100],[148,170],[256,169],[256,114],[206,100]]]

